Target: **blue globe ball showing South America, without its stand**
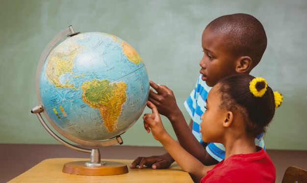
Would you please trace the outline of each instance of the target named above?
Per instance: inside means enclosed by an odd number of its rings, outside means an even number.
[[[149,94],[144,62],[124,40],[86,32],[55,46],[40,73],[39,93],[48,118],[83,140],[126,132],[140,117]]]

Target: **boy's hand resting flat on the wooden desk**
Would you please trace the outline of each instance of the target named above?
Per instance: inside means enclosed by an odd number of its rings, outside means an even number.
[[[152,167],[153,169],[164,169],[169,168],[174,160],[171,156],[151,156],[151,157],[137,157],[131,164],[130,168],[143,169],[144,165]]]

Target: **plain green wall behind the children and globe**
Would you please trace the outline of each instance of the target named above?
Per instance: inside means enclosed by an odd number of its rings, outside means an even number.
[[[174,91],[189,121],[183,101],[199,75],[202,32],[211,20],[239,12],[255,16],[268,37],[252,75],[266,78],[284,95],[266,147],[307,150],[306,0],[0,0],[0,143],[58,143],[30,110],[38,104],[41,53],[71,24],[75,31],[106,32],[127,41],[143,58],[150,79]],[[141,119],[122,137],[125,145],[160,146]]]

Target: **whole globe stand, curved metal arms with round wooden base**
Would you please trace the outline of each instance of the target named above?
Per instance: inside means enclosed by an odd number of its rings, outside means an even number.
[[[78,144],[81,145],[87,145],[87,146],[110,146],[115,145],[117,143],[123,144],[123,140],[120,136],[117,136],[115,138],[105,140],[105,141],[88,141],[88,140],[82,140],[80,138],[74,137],[59,127],[57,127],[56,124],[51,120],[51,118],[48,116],[46,111],[43,109],[41,96],[39,92],[39,76],[40,72],[42,70],[42,67],[46,61],[47,56],[49,55],[51,49],[65,36],[71,37],[74,35],[77,35],[79,32],[75,32],[72,25],[70,25],[67,29],[60,32],[58,35],[56,35],[51,42],[46,46],[44,49],[42,56],[40,58],[39,64],[37,66],[36,70],[36,94],[39,101],[39,105],[35,106],[31,113],[36,114],[39,121],[43,125],[43,127],[48,131],[48,133],[54,137],[56,140],[61,142],[63,145],[75,149],[77,151],[85,152],[85,153],[91,153],[90,161],[73,161],[65,163],[62,169],[62,172],[68,173],[68,174],[74,174],[74,175],[120,175],[128,173],[128,167],[124,163],[120,162],[113,162],[113,161],[105,161],[102,162],[100,158],[100,152],[99,149],[86,149],[81,148],[78,146],[75,146],[71,143],[68,143],[67,141],[63,140],[61,137],[57,136],[46,124],[44,121],[41,113],[45,114],[45,117],[50,122],[51,126],[60,133],[63,137],[66,137]]]

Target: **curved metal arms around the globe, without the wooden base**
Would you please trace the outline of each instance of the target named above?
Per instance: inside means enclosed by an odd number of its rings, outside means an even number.
[[[45,114],[45,117],[46,119],[49,121],[49,123],[51,124],[51,126],[59,133],[61,134],[63,137],[77,143],[77,144],[80,144],[80,145],[85,145],[85,146],[94,146],[94,147],[98,147],[98,146],[110,146],[110,145],[114,145],[114,144],[122,144],[123,141],[122,141],[122,138],[120,136],[117,136],[115,138],[112,138],[112,139],[109,139],[109,140],[104,140],[104,141],[90,141],[90,140],[83,140],[83,139],[80,139],[78,137],[75,137],[75,136],[72,136],[70,134],[68,134],[67,132],[65,132],[64,130],[60,129],[52,120],[51,118],[49,117],[49,115],[47,114],[47,112],[43,109],[42,107],[42,100],[41,100],[41,95],[40,95],[40,84],[39,84],[39,80],[40,80],[40,73],[42,71],[42,68],[44,66],[44,63],[49,55],[49,53],[51,52],[52,48],[61,40],[63,39],[64,37],[66,36],[74,36],[74,35],[77,35],[79,32],[75,32],[72,25],[70,25],[68,28],[64,29],[62,32],[60,32],[59,34],[57,34],[52,40],[51,42],[46,46],[46,48],[44,49],[42,55],[41,55],[41,58],[39,60],[39,63],[38,63],[38,66],[37,66],[37,70],[36,70],[36,77],[35,77],[35,86],[36,86],[36,95],[37,95],[37,100],[39,102],[39,105],[34,107],[32,109],[32,112],[33,113],[41,113],[43,112],[43,114]],[[42,110],[37,110],[36,108],[38,107],[42,107]],[[39,114],[40,115],[40,114]],[[44,119],[41,117],[39,117],[39,115],[37,114],[37,117],[39,118],[40,122],[43,124],[45,123]],[[46,124],[46,123],[45,123]],[[44,126],[44,124],[43,124]],[[45,126],[44,126],[45,127]],[[48,126],[47,126],[48,127]],[[51,134],[53,133],[50,129],[50,131],[45,127],[45,129]],[[53,133],[53,135],[55,135]],[[51,136],[54,137],[52,134]],[[56,135],[55,135],[56,136]],[[56,138],[56,137],[54,137]],[[58,137],[60,138],[60,137]],[[56,138],[58,141],[60,141],[58,138]],[[60,138],[61,139],[61,138]],[[65,140],[61,139],[62,141],[66,142]],[[62,141],[60,141],[61,143],[63,143]],[[68,142],[66,142],[67,144],[64,144],[70,148],[73,148],[73,149],[76,149],[76,150],[79,150],[79,151],[83,151],[83,152],[87,152],[87,151],[84,151],[84,148],[80,148],[80,149],[77,149],[79,147],[77,146],[74,146]],[[73,147],[69,146],[69,145],[72,145]],[[90,150],[89,150],[90,151]]]

